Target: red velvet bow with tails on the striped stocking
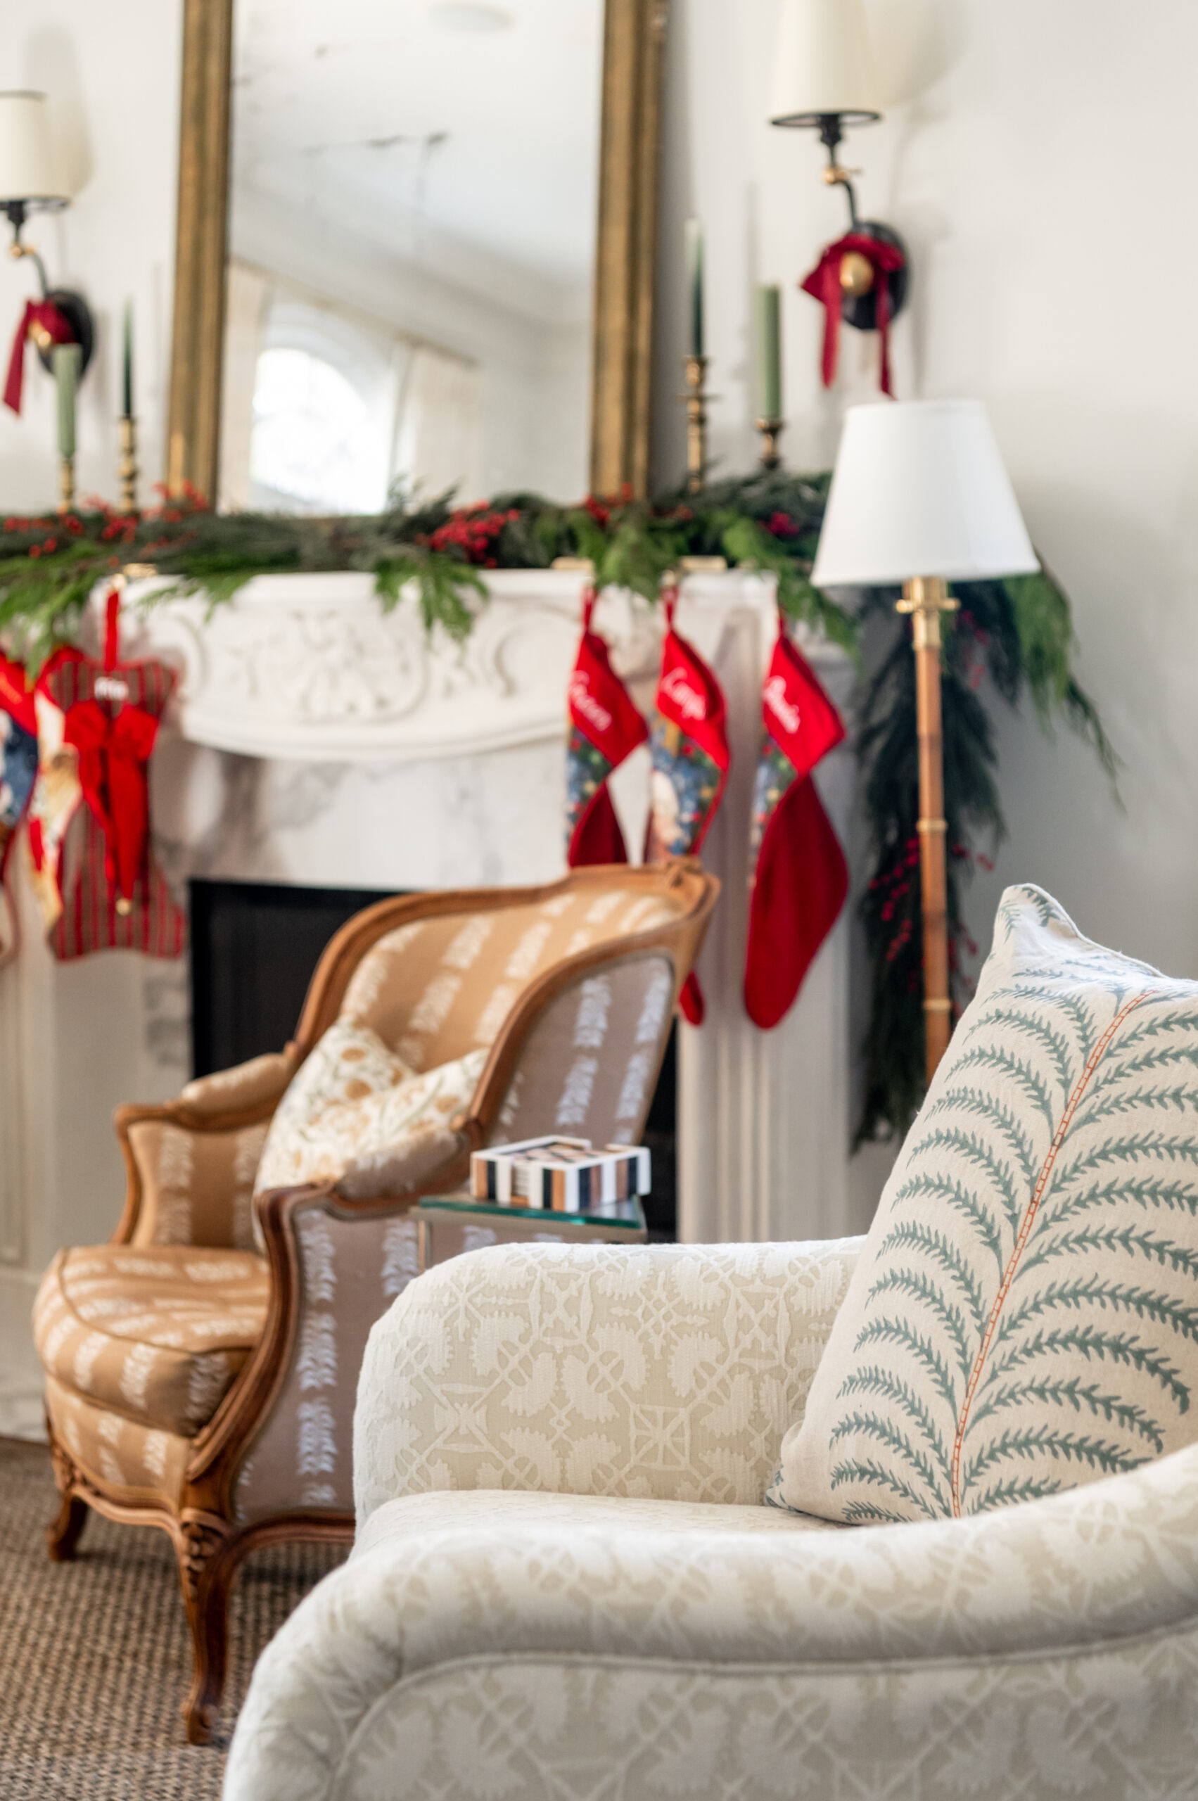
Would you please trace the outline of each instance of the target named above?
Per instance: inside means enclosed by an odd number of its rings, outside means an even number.
[[[97,701],[79,701],[65,715],[63,740],[79,753],[79,787],[104,834],[104,863],[119,913],[132,908],[146,855],[146,764],[157,733],[159,720],[141,706],[123,706],[108,719]]]

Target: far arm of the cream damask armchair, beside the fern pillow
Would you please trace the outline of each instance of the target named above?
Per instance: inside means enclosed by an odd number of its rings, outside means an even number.
[[[366,1345],[358,1525],[452,1488],[760,1502],[859,1243],[508,1244],[427,1272]]]

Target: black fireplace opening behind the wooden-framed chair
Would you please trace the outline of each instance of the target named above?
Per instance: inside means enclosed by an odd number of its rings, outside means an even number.
[[[375,888],[301,888],[290,882],[191,884],[191,1061],[195,1075],[229,1070],[294,1036],[312,973],[346,920],[391,899]],[[677,1027],[649,1109],[650,1237],[677,1228]]]

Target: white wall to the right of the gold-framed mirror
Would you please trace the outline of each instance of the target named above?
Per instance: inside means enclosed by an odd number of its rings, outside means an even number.
[[[767,126],[778,0],[672,0],[658,468],[685,448],[681,231],[708,231],[713,450],[753,454],[751,303],[787,290],[784,448],[829,466],[876,340],[843,331],[818,385],[821,312],[796,292],[845,229],[814,133]],[[1074,602],[1083,684],[1115,738],[1121,810],[1097,762],[1030,717],[1000,722],[1011,825],[969,897],[987,947],[1005,882],[1056,893],[1083,931],[1198,976],[1198,243],[1191,0],[867,0],[894,101],[841,158],[863,214],[906,238],[899,398],[978,394],[1029,528]],[[847,355],[845,355],[847,353]],[[863,1201],[885,1160],[863,1178]]]

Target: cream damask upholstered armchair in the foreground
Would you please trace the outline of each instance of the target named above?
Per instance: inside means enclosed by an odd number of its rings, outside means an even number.
[[[1198,1448],[966,1520],[762,1506],[861,1243],[413,1284],[353,1556],[261,1657],[225,1801],[1191,1794]]]

